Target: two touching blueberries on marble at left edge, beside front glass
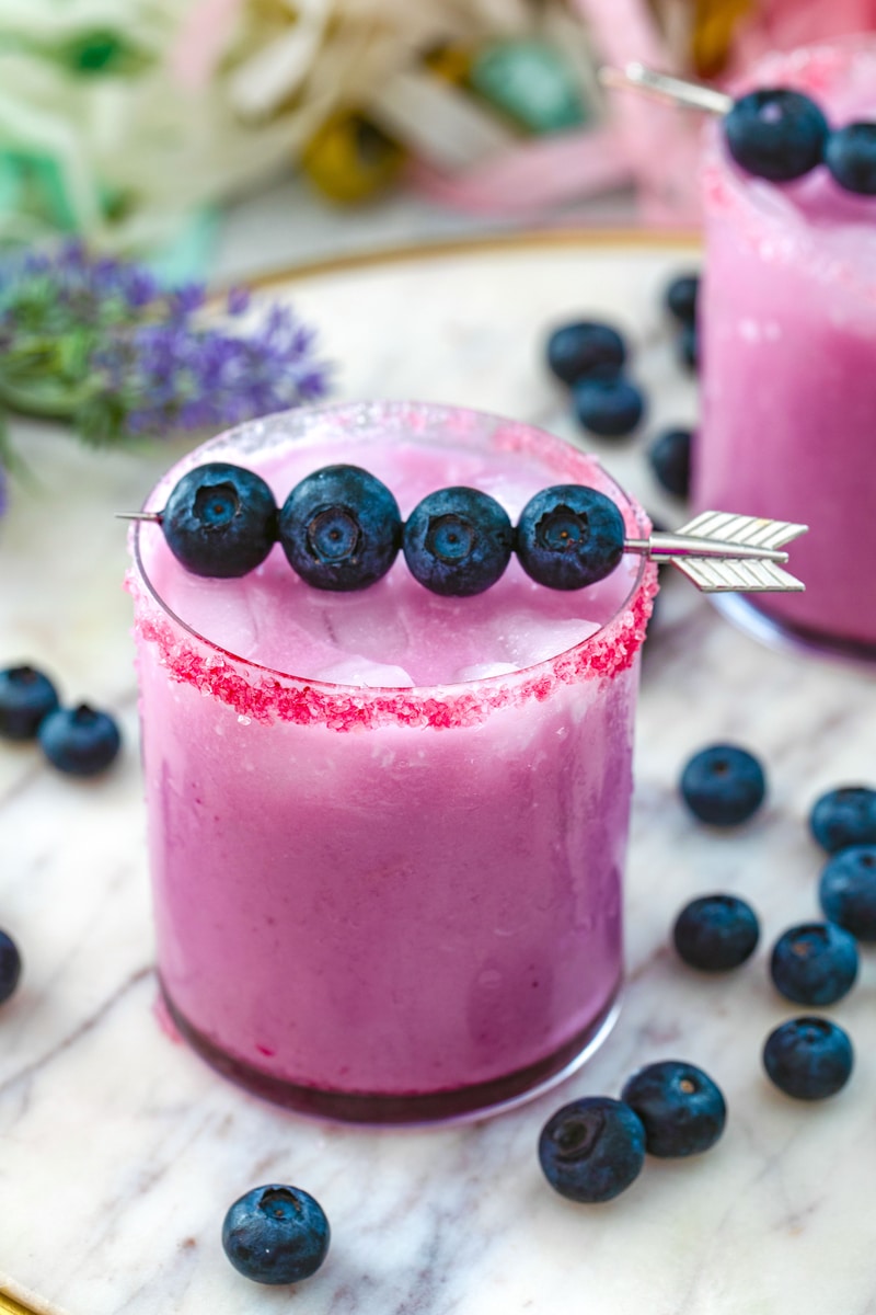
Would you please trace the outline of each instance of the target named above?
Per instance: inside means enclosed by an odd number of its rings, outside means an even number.
[[[68,776],[96,776],[118,755],[121,735],[109,713],[89,704],[62,707],[54,682],[29,664],[0,671],[0,738],[33,740]]]

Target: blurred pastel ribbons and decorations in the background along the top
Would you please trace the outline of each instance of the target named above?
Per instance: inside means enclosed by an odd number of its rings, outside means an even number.
[[[602,62],[733,78],[876,0],[4,0],[0,242],[169,276],[510,225],[696,224],[695,117]]]

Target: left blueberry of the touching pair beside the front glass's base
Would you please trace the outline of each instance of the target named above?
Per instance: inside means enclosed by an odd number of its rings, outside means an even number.
[[[642,1170],[645,1128],[623,1101],[586,1095],[548,1119],[538,1161],[550,1186],[570,1201],[611,1201]]]

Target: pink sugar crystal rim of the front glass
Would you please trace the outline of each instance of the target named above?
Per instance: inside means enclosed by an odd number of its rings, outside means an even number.
[[[383,405],[398,412],[402,412],[403,408],[408,408],[411,412],[419,409],[418,404],[389,402]],[[428,404],[419,404],[419,406],[448,412],[457,409],[428,406]],[[327,412],[348,417],[356,409],[356,404],[335,404],[311,410],[319,418],[320,413]],[[482,414],[470,408],[460,408],[460,410],[465,410],[469,417]],[[619,510],[624,515],[626,529],[641,533],[649,526],[641,508],[620,489],[608,472],[602,469],[595,458],[565,444],[556,435],[524,422],[500,421],[493,416],[483,418],[500,426],[494,434],[496,448],[500,451],[528,451],[544,456],[549,463],[550,456],[556,456],[559,446],[567,448],[563,455],[569,469],[580,468],[590,473],[595,464],[605,480],[624,497],[625,505],[619,506]],[[243,431],[248,427],[251,426],[239,426],[239,430]],[[238,430],[219,435],[214,443],[227,441]],[[175,471],[197,464],[193,458],[198,452],[202,454],[204,448],[189,454],[189,458],[177,463]],[[165,480],[167,476],[159,481],[158,488]],[[137,534],[137,530],[138,526],[133,526],[131,537]],[[138,554],[135,554],[135,560],[138,560]],[[532,667],[520,668],[508,676],[493,676],[460,685],[419,685],[414,689],[390,690],[374,686],[361,689],[307,680],[261,667],[231,654],[206,636],[189,630],[181,618],[175,617],[154,592],[142,563],[139,567],[139,572],[135,567],[129,569],[125,588],[138,609],[146,608],[154,613],[158,608],[160,615],[150,615],[148,613],[137,615],[134,634],[146,643],[156,646],[159,661],[172,680],[193,685],[201,694],[217,698],[240,718],[263,725],[269,725],[273,721],[298,726],[323,725],[335,731],[365,730],[385,725],[431,726],[436,730],[477,726],[500,707],[520,705],[531,700],[542,702],[563,685],[594,679],[611,680],[632,667],[645,639],[647,619],[659,588],[655,563],[642,558],[630,592],[613,617],[573,648]],[[190,639],[185,638],[186,635],[190,635]]]

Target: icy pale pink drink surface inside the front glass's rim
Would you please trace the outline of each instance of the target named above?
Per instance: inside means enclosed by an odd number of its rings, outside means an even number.
[[[533,493],[559,483],[544,463],[517,452],[486,456],[462,447],[376,441],[353,458],[352,464],[366,467],[393,490],[402,517],[427,493],[464,484],[490,493],[516,521]],[[267,454],[252,468],[282,504],[298,480],[340,462],[351,462],[349,443],[322,442]],[[605,487],[594,467],[582,473],[587,483]],[[540,663],[598,630],[629,593],[638,568],[628,558],[607,580],[563,592],[536,584],[512,558],[491,589],[447,598],[418,584],[399,555],[370,588],[331,593],[305,584],[280,546],[239,580],[205,580],[179,565],[158,529],[142,543],[158,593],[206,639],[286,675],[368,686],[440,685]]]

